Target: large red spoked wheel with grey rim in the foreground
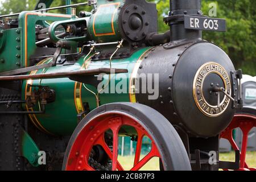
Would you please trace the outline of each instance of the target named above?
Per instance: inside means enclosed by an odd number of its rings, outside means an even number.
[[[89,113],[69,141],[63,169],[125,170],[118,162],[118,137],[123,135],[137,140],[131,171],[155,157],[161,159],[165,170],[191,169],[185,147],[170,122],[148,106],[131,103],[104,105]],[[151,140],[151,150],[141,158],[143,137]]]

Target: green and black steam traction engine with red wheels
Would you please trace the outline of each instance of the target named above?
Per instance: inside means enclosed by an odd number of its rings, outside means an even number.
[[[201,38],[202,30],[225,31],[225,20],[204,16],[199,0],[173,0],[164,18],[170,31],[158,34],[154,3],[66,2],[49,8],[52,1],[40,0],[46,9],[0,16],[0,169],[121,171],[120,136],[137,142],[131,170],[155,157],[164,170],[250,169],[255,110],[235,114],[242,72]],[[82,5],[92,11],[70,11]],[[68,14],[41,12],[60,8]],[[141,156],[144,137],[151,151]],[[218,160],[220,137],[236,162]]]

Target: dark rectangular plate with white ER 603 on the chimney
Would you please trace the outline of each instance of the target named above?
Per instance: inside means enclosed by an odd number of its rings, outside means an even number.
[[[193,30],[226,31],[226,20],[202,16],[184,16],[185,28]]]

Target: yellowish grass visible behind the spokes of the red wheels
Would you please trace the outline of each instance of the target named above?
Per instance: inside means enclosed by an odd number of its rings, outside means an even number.
[[[143,156],[141,157],[141,159]],[[220,154],[220,160],[234,162],[234,152],[226,152]],[[133,167],[134,156],[118,156],[118,161],[121,163],[125,170],[129,170]],[[256,168],[256,151],[248,151],[246,153],[246,163],[249,167]],[[152,158],[141,171],[158,171],[159,170],[159,158]]]

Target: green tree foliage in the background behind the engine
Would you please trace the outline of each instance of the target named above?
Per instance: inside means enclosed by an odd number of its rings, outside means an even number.
[[[169,0],[148,0],[156,2],[158,8],[159,32],[168,30],[163,23],[163,17],[170,10]],[[85,2],[84,0],[73,0],[73,3]],[[221,46],[232,59],[236,68],[242,68],[243,73],[256,75],[256,3],[255,0],[203,0],[202,10],[208,15],[209,3],[217,4],[217,18],[225,18],[227,32],[203,32],[203,38]],[[53,1],[52,6],[64,5],[65,1]],[[0,7],[0,14],[17,13],[23,10],[32,10],[36,0],[5,0]],[[79,7],[81,10],[89,11],[88,7]],[[54,10],[52,13],[65,13],[65,10]]]

